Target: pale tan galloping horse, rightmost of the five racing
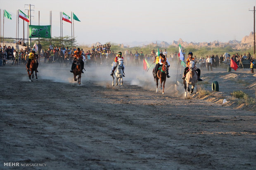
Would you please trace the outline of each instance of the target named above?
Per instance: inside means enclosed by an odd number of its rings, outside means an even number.
[[[185,97],[187,97],[187,92],[190,92],[189,85],[192,85],[190,94],[192,94],[193,91],[194,91],[194,94],[197,93],[196,83],[197,83],[198,76],[195,72],[195,63],[194,63],[194,61],[190,62],[190,65],[189,65],[188,68],[189,68],[189,70],[186,74],[185,80],[183,80],[183,85],[184,85],[184,89],[185,89]]]

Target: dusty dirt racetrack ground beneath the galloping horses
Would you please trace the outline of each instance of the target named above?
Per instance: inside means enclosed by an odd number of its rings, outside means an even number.
[[[138,67],[126,66],[122,87],[111,86],[110,67],[86,67],[80,86],[69,69],[42,63],[29,83],[23,65],[0,67],[0,169],[256,169],[256,113],[184,98],[177,69],[164,95]],[[255,97],[249,69],[202,69],[202,79]]]

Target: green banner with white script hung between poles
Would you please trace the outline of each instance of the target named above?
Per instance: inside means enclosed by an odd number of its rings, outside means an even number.
[[[29,25],[29,38],[51,38],[51,25]]]

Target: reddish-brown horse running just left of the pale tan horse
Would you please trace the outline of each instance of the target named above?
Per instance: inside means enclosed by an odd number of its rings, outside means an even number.
[[[164,94],[164,85],[165,85],[165,81],[166,81],[166,71],[167,71],[167,66],[168,63],[164,62],[164,64],[162,65],[162,67],[159,67],[158,71],[156,72],[156,93],[158,92],[158,80],[160,79],[160,89],[163,89],[162,94]],[[153,69],[153,73],[154,73],[154,69]],[[163,88],[162,88],[162,83],[163,83]]]

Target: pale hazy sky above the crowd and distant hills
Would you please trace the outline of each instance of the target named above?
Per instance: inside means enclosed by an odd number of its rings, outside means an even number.
[[[50,25],[52,11],[52,37],[60,36],[60,12],[71,16],[72,11],[81,21],[74,22],[78,44],[128,45],[133,41],[172,43],[180,38],[187,42],[241,41],[254,30],[249,9],[254,9],[256,0],[0,0],[0,4],[1,35],[3,10],[12,14],[12,20],[5,18],[5,37],[16,37],[17,10],[27,14],[25,9],[31,4],[32,25],[38,25],[38,11],[40,25]],[[66,35],[71,36],[71,23],[63,21]],[[21,19],[19,37],[23,37]]]

